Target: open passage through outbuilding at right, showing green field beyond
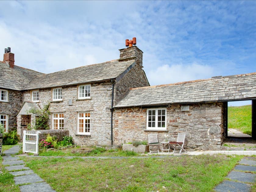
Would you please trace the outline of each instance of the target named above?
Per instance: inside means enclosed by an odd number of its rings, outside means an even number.
[[[226,102],[224,106],[226,137],[256,140],[256,100]]]

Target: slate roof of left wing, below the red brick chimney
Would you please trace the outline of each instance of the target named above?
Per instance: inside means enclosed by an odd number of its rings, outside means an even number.
[[[10,68],[5,62],[0,62],[0,88],[20,91],[34,78],[43,73],[20,66]]]

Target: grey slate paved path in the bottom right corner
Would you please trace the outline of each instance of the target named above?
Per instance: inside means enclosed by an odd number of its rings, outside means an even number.
[[[249,192],[251,184],[255,182],[256,157],[244,157],[238,162],[233,171],[226,176],[229,180],[224,180],[215,187],[215,191]]]

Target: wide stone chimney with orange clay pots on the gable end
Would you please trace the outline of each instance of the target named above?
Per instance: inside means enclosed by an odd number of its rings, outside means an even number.
[[[134,38],[133,37],[133,44],[136,44],[136,38],[135,38],[135,43],[134,43]],[[142,56],[143,52],[137,48],[137,46],[131,46],[132,44],[129,42],[132,40],[126,39],[126,46],[129,46],[128,48],[124,49],[119,49],[120,51],[120,59],[119,61],[124,61],[124,60],[130,60],[130,59],[135,59],[135,62],[137,65],[142,66]]]

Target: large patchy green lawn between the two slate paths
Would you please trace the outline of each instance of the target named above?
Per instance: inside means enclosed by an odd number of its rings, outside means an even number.
[[[211,191],[242,156],[21,158],[56,191]]]

